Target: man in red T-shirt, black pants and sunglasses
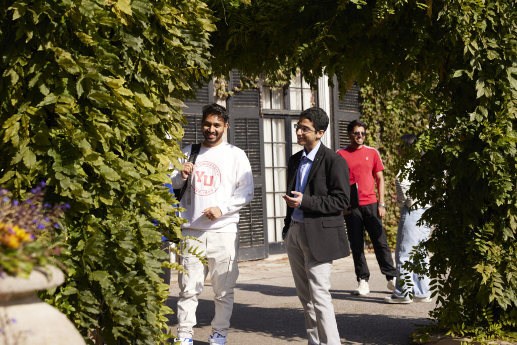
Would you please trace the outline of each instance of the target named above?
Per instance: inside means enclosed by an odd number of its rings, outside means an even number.
[[[363,227],[368,231],[375,251],[375,257],[382,274],[388,280],[387,287],[394,291],[397,269],[393,266],[391,249],[388,246],[386,232],[383,229],[382,217],[386,214],[384,202],[384,177],[381,156],[373,147],[365,146],[366,124],[354,120],[347,127],[350,146],[338,150],[338,154],[346,159],[350,172],[350,184],[357,183],[359,207],[343,212],[345,215],[348,241],[354,258],[355,273],[359,285],[353,292],[355,295],[366,295],[370,292],[368,279],[370,271],[364,258]],[[375,194],[375,182],[379,200]]]

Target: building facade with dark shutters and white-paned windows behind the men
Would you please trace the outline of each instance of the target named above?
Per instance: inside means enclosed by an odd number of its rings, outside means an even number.
[[[229,89],[239,80],[238,72],[233,71]],[[336,80],[334,85],[337,86]],[[293,127],[300,112],[310,107],[323,108],[330,117],[323,144],[334,151],[348,144],[346,126],[360,116],[359,86],[354,85],[342,99],[337,87],[328,86],[327,77],[320,78],[317,86],[312,89],[298,74],[284,88],[263,84],[235,93],[222,103],[230,114],[226,140],[248,155],[255,184],[253,201],[240,212],[239,260],[285,252],[281,234],[286,205],[282,195],[286,191],[287,160],[301,149]],[[216,101],[213,82],[197,90],[196,100],[185,101],[183,146],[203,141],[201,109]]]

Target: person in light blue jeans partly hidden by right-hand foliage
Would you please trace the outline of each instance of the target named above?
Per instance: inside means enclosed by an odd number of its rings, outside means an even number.
[[[404,148],[410,147],[416,139],[415,134],[404,134],[401,138],[403,145],[400,154]],[[411,167],[412,162],[406,164],[406,169]],[[410,252],[413,247],[420,242],[425,241],[429,237],[431,229],[428,224],[418,225],[417,222],[422,217],[425,210],[430,205],[419,205],[418,201],[413,199],[407,193],[411,182],[407,177],[403,178],[401,172],[397,174],[395,180],[397,189],[397,203],[400,207],[399,230],[397,232],[397,245],[395,248],[395,263],[397,265],[397,281],[393,294],[384,297],[387,303],[408,304],[412,302],[431,302],[431,290],[429,284],[431,279],[428,276],[420,276],[413,272],[408,272],[402,265],[409,260]],[[429,266],[429,256],[425,256],[425,265]],[[401,278],[408,277],[412,287],[402,287]],[[409,292],[414,298],[409,297]]]

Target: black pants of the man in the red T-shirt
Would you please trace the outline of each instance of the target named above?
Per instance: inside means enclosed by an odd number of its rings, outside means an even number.
[[[368,264],[366,263],[366,258],[364,258],[363,226],[372,240],[375,258],[377,258],[382,274],[386,276],[387,280],[397,276],[397,268],[393,266],[386,231],[383,229],[381,218],[377,216],[377,203],[359,206],[351,211],[351,214],[345,216],[345,223],[348,241],[352,249],[352,257],[354,258],[357,281],[359,279],[368,281],[370,278]]]

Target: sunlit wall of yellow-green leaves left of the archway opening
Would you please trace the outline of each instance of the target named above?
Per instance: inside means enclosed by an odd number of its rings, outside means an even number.
[[[0,1],[0,184],[22,200],[43,180],[70,205],[66,281],[43,297],[88,343],[167,337],[158,260],[181,219],[163,185],[211,22],[197,0]]]

